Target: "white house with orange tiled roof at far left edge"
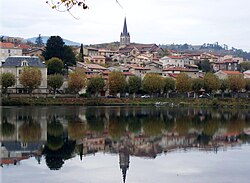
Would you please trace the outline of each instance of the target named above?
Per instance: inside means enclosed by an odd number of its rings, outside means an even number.
[[[22,48],[10,42],[0,42],[0,66],[9,56],[22,56]]]

